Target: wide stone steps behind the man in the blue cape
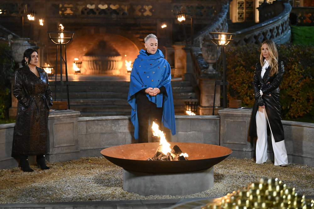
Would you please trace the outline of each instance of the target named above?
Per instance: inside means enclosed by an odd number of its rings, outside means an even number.
[[[58,82],[58,81],[57,81]],[[52,97],[55,98],[55,82],[50,81]],[[69,81],[70,109],[81,112],[81,117],[131,115],[127,103],[129,81]],[[197,101],[190,81],[171,81],[176,115],[185,113],[185,101]],[[60,101],[60,84],[57,83],[56,98]],[[63,86],[63,101],[67,101]]]

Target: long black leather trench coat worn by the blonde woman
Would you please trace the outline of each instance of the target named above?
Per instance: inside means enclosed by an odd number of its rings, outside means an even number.
[[[274,76],[269,76],[270,67],[266,69],[266,72],[261,77],[262,66],[261,63],[257,63],[255,67],[255,73],[253,77],[253,88],[254,93],[262,90],[263,92],[263,101],[265,103],[265,110],[267,113],[268,121],[270,128],[273,132],[275,142],[280,142],[284,140],[284,129],[281,123],[280,115],[280,103],[279,103],[279,85],[282,81],[284,75],[284,63],[282,61],[278,62],[278,73]],[[249,135],[251,137],[257,137],[256,133],[256,113],[258,111],[257,100],[254,102],[251,122],[250,122],[250,131]],[[268,136],[270,136],[269,125],[267,128]]]

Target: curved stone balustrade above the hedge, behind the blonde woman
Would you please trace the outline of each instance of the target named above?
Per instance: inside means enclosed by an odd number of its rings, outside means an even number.
[[[275,43],[283,44],[289,41],[291,31],[289,26],[289,13],[291,5],[284,3],[284,11],[278,16],[250,28],[236,32],[233,44],[261,44],[264,40],[271,39]]]

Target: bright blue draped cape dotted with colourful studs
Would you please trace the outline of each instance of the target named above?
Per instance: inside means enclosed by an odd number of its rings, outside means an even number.
[[[130,88],[127,102],[132,107],[131,121],[134,125],[134,138],[138,139],[138,117],[135,93],[144,88],[160,88],[165,86],[167,96],[163,101],[163,94],[150,96],[146,94],[149,101],[154,102],[157,107],[164,106],[162,123],[166,128],[171,129],[172,135],[176,134],[175,112],[171,90],[171,69],[162,52],[157,49],[154,55],[147,55],[145,50],[140,50],[138,58],[134,60],[130,75]]]

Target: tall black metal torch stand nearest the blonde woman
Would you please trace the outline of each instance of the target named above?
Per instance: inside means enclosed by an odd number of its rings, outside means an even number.
[[[218,80],[217,69],[220,69],[220,63],[219,63],[219,67],[217,68],[217,60],[216,60],[216,78],[215,78],[214,105],[213,105],[213,115],[214,115],[217,85],[223,86],[223,105],[224,105],[224,108],[227,107],[227,85],[229,84],[229,82],[226,81],[227,77],[226,77],[226,48],[225,46],[231,44],[231,42],[235,39],[236,34],[212,32],[212,33],[209,33],[209,36],[212,42],[217,45],[217,59],[218,59],[218,47],[219,46],[222,47],[223,77],[222,77],[221,82],[217,82]]]

